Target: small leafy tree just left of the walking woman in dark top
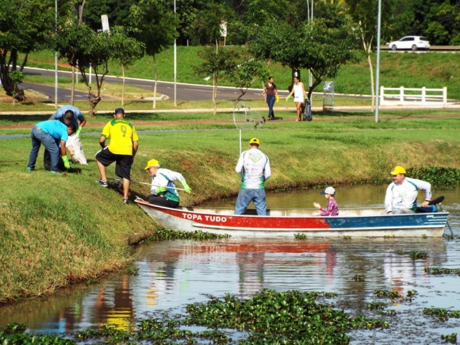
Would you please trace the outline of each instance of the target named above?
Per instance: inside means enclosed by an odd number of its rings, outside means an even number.
[[[267,66],[253,58],[245,59],[230,70],[229,79],[241,92],[238,98],[236,98],[235,104],[245,95],[247,89],[249,89],[257,79],[268,79],[269,74],[270,72]]]

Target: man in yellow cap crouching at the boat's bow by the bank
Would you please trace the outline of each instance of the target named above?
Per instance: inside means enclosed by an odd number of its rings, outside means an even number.
[[[149,160],[144,170],[152,176],[151,193],[147,200],[149,204],[176,208],[179,206],[179,194],[173,181],[180,181],[185,192],[190,194],[192,188],[187,185],[184,176],[176,171],[160,168],[158,160]]]

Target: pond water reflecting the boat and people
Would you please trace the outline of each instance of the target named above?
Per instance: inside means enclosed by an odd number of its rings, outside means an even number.
[[[319,190],[268,194],[269,207],[325,205]],[[382,206],[385,187],[337,188],[339,208]],[[0,328],[25,323],[31,332],[69,334],[114,323],[128,330],[137,320],[160,311],[184,312],[192,302],[225,293],[251,296],[261,289],[337,292],[336,307],[351,314],[378,316],[367,302],[387,302],[396,311],[386,330],[356,330],[351,344],[440,344],[440,335],[460,335],[459,319],[438,321],[424,308],[460,309],[460,277],[428,275],[424,268],[460,268],[460,190],[437,190],[454,240],[447,238],[308,238],[254,240],[230,238],[197,242],[175,240],[138,247],[139,275],[117,273],[100,284],[63,289],[47,300],[29,300],[0,308]],[[420,195],[420,199],[422,199]],[[234,199],[214,201],[229,206]],[[445,234],[450,234],[446,227]],[[427,259],[411,259],[410,252]],[[400,254],[404,252],[404,254]],[[364,276],[356,282],[355,275]],[[375,290],[417,291],[411,301],[374,296]]]

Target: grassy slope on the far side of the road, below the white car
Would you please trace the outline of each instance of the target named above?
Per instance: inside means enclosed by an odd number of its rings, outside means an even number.
[[[177,47],[177,76],[178,82],[189,82],[196,84],[211,84],[204,81],[204,76],[194,74],[193,66],[200,63],[198,52],[202,47]],[[238,47],[237,49],[241,49]],[[375,56],[373,57],[374,68],[376,66]],[[39,63],[43,61],[45,63]],[[165,81],[174,80],[174,51],[166,49],[156,56],[158,67],[158,79]],[[65,66],[66,61],[61,61]],[[49,51],[33,52],[29,56],[27,66],[43,68],[54,68],[54,53]],[[386,87],[405,86],[406,88],[427,88],[440,89],[447,86],[449,98],[460,100],[460,54],[429,52],[427,54],[412,54],[381,52],[380,61],[380,84]],[[278,63],[270,63],[275,83],[279,89],[287,89],[291,81],[291,70],[280,66]],[[121,76],[121,68],[116,63],[109,66],[110,74]],[[307,71],[302,71],[303,79],[307,77]],[[153,59],[151,56],[144,56],[128,68],[127,77],[139,77],[153,79]],[[370,94],[369,68],[367,61],[362,60],[343,66],[335,79],[336,93],[358,93]],[[228,84],[225,81],[222,85]],[[261,87],[258,81],[254,87]],[[322,91],[320,85],[315,91]]]

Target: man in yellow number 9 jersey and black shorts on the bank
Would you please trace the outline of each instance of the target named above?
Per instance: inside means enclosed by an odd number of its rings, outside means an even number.
[[[110,138],[109,146],[105,140]],[[138,138],[135,128],[125,120],[125,110],[116,108],[114,120],[105,125],[99,144],[102,150],[96,155],[96,162],[100,172],[98,183],[107,187],[107,175],[105,167],[116,162],[115,174],[123,178],[123,203],[128,204],[128,192],[130,191],[131,166],[137,152]]]

